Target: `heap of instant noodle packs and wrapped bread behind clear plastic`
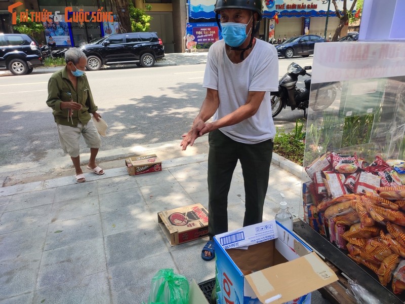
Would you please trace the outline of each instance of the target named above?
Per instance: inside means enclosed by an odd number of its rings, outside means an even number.
[[[332,152],[305,170],[304,220],[382,285],[405,290],[405,161]]]

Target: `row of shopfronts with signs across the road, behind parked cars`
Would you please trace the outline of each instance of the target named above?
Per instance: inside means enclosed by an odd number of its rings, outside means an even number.
[[[51,12],[51,22],[44,22],[44,33],[35,35],[40,43],[48,43],[49,37],[58,47],[79,46],[99,37],[121,32],[111,0],[20,0],[23,5],[12,12]],[[153,19],[150,31],[157,32],[163,40],[166,53],[181,53],[190,49],[206,49],[221,38],[215,20],[216,0],[130,0],[136,8],[143,9]],[[350,7],[353,0],[347,0]],[[0,0],[0,32],[13,32],[12,13],[9,7],[16,0]],[[334,33],[339,19],[336,18],[331,0],[262,0],[263,20],[259,36],[262,40],[287,39],[304,33],[325,35]],[[343,0],[337,0],[340,9]],[[68,9],[70,8],[70,9]],[[55,22],[55,13],[62,17]],[[98,12],[110,12],[108,20],[80,20],[77,12],[86,12],[89,16]],[[327,15],[329,15],[327,18]],[[275,17],[277,16],[277,17]],[[64,22],[66,18],[69,22]],[[347,31],[343,29],[342,35]]]

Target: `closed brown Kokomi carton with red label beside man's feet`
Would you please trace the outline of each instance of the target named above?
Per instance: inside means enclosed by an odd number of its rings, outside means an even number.
[[[208,211],[201,204],[158,212],[157,222],[172,246],[208,236]]]

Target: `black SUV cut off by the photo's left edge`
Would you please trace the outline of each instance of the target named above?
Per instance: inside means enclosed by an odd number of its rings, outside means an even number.
[[[0,33],[0,68],[7,68],[15,75],[24,75],[42,65],[41,50],[32,37]]]

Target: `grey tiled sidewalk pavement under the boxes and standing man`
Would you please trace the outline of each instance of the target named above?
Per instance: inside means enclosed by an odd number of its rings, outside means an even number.
[[[200,258],[207,238],[170,246],[157,224],[158,211],[208,207],[207,157],[163,159],[163,171],[139,176],[123,166],[85,173],[83,184],[68,176],[0,188],[0,303],[141,303],[159,269],[214,278],[215,262]],[[279,192],[298,213],[299,168],[274,155],[264,219],[274,217]],[[242,183],[238,165],[230,230],[242,224]]]

